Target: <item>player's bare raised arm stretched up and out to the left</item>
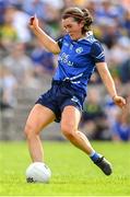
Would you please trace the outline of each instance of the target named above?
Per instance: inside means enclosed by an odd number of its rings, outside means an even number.
[[[29,27],[33,33],[37,36],[37,38],[43,43],[45,48],[47,48],[52,54],[59,54],[60,47],[50,36],[48,36],[38,25],[38,19],[32,16],[29,19]]]

